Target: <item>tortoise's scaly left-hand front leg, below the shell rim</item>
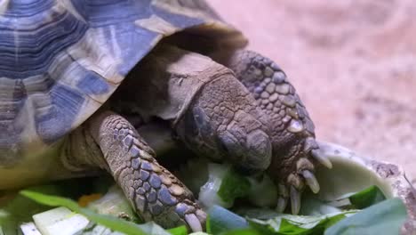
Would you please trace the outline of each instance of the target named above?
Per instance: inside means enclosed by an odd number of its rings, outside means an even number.
[[[192,192],[156,162],[154,151],[126,119],[108,111],[92,117],[83,128],[71,136],[69,147],[78,166],[82,162],[107,168],[145,221],[204,230],[206,215]]]

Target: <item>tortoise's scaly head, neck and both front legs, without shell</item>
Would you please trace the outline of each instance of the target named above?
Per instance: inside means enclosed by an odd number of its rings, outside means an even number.
[[[305,183],[319,190],[316,162],[331,167],[319,155],[308,112],[272,61],[247,51],[212,58],[220,63],[158,46],[113,95],[112,110],[104,107],[70,135],[64,165],[73,171],[96,166],[108,170],[146,221],[202,231],[204,210],[157,163],[136,131],[148,120],[162,119],[198,155],[229,161],[244,174],[267,171],[279,191],[277,209],[284,210],[291,199],[292,213],[297,214]]]

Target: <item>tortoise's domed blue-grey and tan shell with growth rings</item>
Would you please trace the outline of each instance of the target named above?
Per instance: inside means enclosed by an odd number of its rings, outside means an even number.
[[[164,36],[187,28],[244,41],[203,1],[0,2],[0,166],[81,125]]]

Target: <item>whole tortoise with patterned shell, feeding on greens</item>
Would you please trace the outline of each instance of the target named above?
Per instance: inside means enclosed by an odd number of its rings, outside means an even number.
[[[1,2],[0,189],[114,176],[144,220],[204,230],[193,194],[136,130],[152,123],[197,155],[268,173],[277,209],[331,167],[274,61],[203,0]]]

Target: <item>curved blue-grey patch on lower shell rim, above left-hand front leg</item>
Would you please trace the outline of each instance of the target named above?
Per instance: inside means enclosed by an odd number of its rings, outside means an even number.
[[[47,143],[59,140],[71,130],[84,103],[81,93],[65,85],[54,85],[50,94],[52,106],[35,118],[37,134]]]

